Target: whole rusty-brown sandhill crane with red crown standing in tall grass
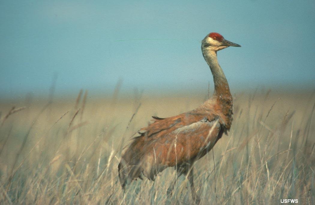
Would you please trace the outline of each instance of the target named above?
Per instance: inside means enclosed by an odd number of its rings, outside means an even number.
[[[232,96],[226,77],[217,59],[217,51],[229,46],[241,47],[227,41],[219,33],[210,33],[203,40],[201,50],[208,63],[215,90],[213,96],[198,108],[168,118],[153,116],[153,121],[133,138],[118,165],[121,186],[143,176],[154,180],[167,167],[177,169],[177,177],[185,174],[189,180],[192,199],[200,198],[193,183],[193,163],[207,154],[227,134],[232,123]],[[174,183],[168,192],[173,190]]]

